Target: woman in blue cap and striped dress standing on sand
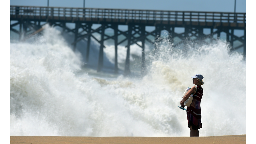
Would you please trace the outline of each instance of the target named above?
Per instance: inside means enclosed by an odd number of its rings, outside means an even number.
[[[189,107],[187,107],[187,119],[188,119],[188,127],[190,128],[190,136],[199,136],[198,129],[202,128],[201,123],[201,99],[203,96],[203,88],[201,85],[204,84],[203,76],[201,74],[196,74],[192,76],[193,78],[193,86],[188,92],[185,94],[183,99],[180,101],[181,107],[184,107],[184,101],[188,99],[188,97],[194,92],[195,88],[197,87],[196,92],[193,96],[193,101]]]

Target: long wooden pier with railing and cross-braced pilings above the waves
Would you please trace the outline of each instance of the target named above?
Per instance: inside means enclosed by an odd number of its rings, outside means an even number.
[[[184,44],[188,39],[191,41],[202,41],[209,38],[217,39],[221,33],[226,34],[226,40],[230,43],[231,51],[243,48],[245,57],[245,13],[229,12],[196,12],[196,11],[160,11],[160,10],[135,10],[135,9],[98,9],[98,8],[70,8],[70,7],[37,7],[37,6],[11,6],[11,31],[24,40],[44,29],[43,25],[49,23],[51,26],[59,26],[63,32],[74,33],[72,43],[75,50],[77,42],[87,41],[86,61],[90,56],[90,41],[95,39],[100,44],[98,71],[103,67],[104,41],[113,39],[115,44],[115,72],[118,72],[117,46],[127,42],[127,56],[125,61],[125,74],[130,73],[130,45],[137,44],[142,48],[142,72],[145,69],[145,41],[153,44],[161,36],[161,31],[168,32],[168,39],[173,42],[174,38],[181,41],[174,47]],[[44,22],[44,24],[42,24]],[[66,23],[74,23],[75,28],[71,29]],[[101,26],[93,29],[93,24]],[[127,25],[128,30],[118,29],[119,25]],[[19,26],[19,29],[14,27]],[[153,31],[146,31],[147,26],[153,26]],[[184,32],[177,33],[175,28],[184,28]],[[106,29],[113,29],[114,35],[105,33]],[[204,29],[210,29],[205,34]],[[234,30],[243,30],[243,36],[234,35]],[[93,33],[101,35],[100,39],[93,36]],[[123,35],[125,39],[119,40],[118,36]],[[154,40],[149,37],[154,37]],[[234,47],[234,42],[239,41],[240,45]],[[139,42],[139,43],[138,43]]]

